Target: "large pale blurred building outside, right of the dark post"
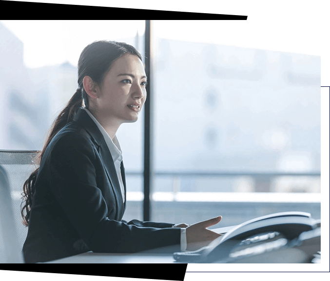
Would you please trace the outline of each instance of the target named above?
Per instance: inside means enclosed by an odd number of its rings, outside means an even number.
[[[157,43],[158,170],[320,171],[320,57]],[[182,191],[253,191],[253,185],[251,178],[181,179]]]

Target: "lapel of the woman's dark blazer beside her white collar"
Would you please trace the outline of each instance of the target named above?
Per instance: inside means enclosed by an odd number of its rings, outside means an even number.
[[[117,205],[116,220],[121,220],[123,213],[124,213],[123,198],[122,198],[121,191],[120,191],[120,185],[119,185],[119,180],[118,180],[118,177],[116,174],[115,164],[112,159],[108,145],[104,141],[102,133],[97,128],[97,125],[89,117],[89,115],[87,114],[87,112],[85,110],[83,110],[82,108],[79,108],[77,111],[77,114],[74,118],[74,121],[79,122],[86,129],[86,131],[92,137],[92,140],[97,145],[97,151],[99,152],[100,158],[101,158],[104,168],[105,168],[105,171],[108,175],[108,179],[112,185],[112,190],[115,194],[116,205]],[[122,168],[123,168],[123,166],[122,166]],[[123,175],[123,169],[121,169],[121,175]],[[125,184],[124,178],[123,178],[123,182],[124,182],[124,186],[125,186],[125,205],[126,205],[126,184]]]

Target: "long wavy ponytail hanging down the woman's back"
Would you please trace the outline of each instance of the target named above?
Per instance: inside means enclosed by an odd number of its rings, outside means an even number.
[[[72,96],[71,100],[69,100],[66,107],[61,111],[56,120],[54,121],[49,136],[47,138],[46,143],[44,144],[42,151],[37,155],[37,163],[40,164],[43,154],[48,146],[48,144],[52,141],[54,136],[58,133],[60,129],[62,129],[67,123],[71,122],[75,117],[78,108],[82,106],[82,94],[81,89],[78,88],[76,93]],[[29,225],[30,220],[30,210],[32,205],[32,198],[35,191],[35,183],[37,179],[39,168],[33,171],[30,177],[24,182],[23,185],[23,193],[22,195],[22,203],[21,203],[21,216],[23,218],[23,224],[25,226]],[[24,212],[26,215],[24,215]]]

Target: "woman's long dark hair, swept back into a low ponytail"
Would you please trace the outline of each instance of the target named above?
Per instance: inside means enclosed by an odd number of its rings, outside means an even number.
[[[88,95],[82,84],[84,77],[89,76],[94,82],[101,85],[106,73],[110,70],[112,63],[127,53],[135,55],[140,60],[142,60],[141,55],[136,50],[136,48],[122,42],[105,40],[95,41],[82,50],[78,60],[78,89],[53,122],[42,151],[37,156],[37,162],[39,164],[48,144],[52,141],[60,129],[62,129],[67,123],[73,120],[78,108],[82,106],[82,101],[84,102],[85,106],[89,108]],[[29,225],[30,210],[32,206],[38,171],[39,168],[32,172],[30,177],[24,182],[23,185],[21,203],[23,207],[21,207],[21,216],[23,218],[23,224],[26,226]],[[24,211],[26,212],[26,215],[24,215]]]

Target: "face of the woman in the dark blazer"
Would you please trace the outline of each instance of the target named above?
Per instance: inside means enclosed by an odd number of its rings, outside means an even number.
[[[147,98],[142,61],[131,54],[115,60],[99,88],[95,109],[103,120],[120,125],[135,122]]]

